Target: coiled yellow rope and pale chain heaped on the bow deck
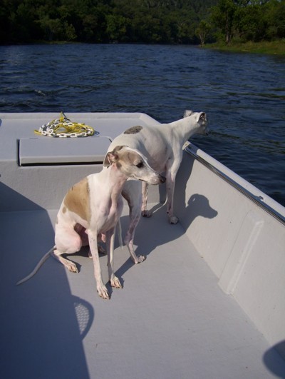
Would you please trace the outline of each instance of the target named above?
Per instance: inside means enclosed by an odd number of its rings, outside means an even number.
[[[56,120],[43,124],[36,134],[50,137],[88,137],[93,136],[95,130],[85,123],[77,123],[71,121],[61,112],[61,116]]]

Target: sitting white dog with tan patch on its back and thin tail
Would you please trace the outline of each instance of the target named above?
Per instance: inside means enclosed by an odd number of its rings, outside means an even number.
[[[108,299],[109,293],[102,281],[98,256],[98,241],[104,241],[110,284],[122,288],[113,272],[113,250],[115,226],[123,210],[123,185],[128,178],[149,184],[164,183],[165,178],[150,168],[140,151],[126,146],[115,146],[107,154],[105,166],[100,173],[87,176],[66,193],[56,218],[55,246],[43,256],[32,273],[17,284],[31,278],[49,255],[58,259],[69,271],[77,273],[76,263],[62,255],[76,253],[81,246],[89,245],[98,294]]]

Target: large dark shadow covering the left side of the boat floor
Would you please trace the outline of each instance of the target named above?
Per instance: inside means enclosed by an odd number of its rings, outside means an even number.
[[[94,306],[73,295],[66,269],[53,258],[35,277],[16,285],[51,248],[54,231],[53,213],[11,191],[15,203],[33,211],[1,215],[0,348],[5,364],[0,376],[89,378],[83,338],[93,324]]]

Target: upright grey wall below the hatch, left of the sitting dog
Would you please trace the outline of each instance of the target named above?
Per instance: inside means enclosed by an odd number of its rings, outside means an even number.
[[[19,167],[1,163],[0,212],[57,209],[66,191],[102,165]]]

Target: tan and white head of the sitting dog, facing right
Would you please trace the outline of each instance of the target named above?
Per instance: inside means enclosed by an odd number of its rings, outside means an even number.
[[[113,163],[128,178],[146,181],[148,184],[165,182],[165,177],[154,171],[147,163],[147,158],[135,148],[116,146],[106,154],[103,166],[108,167]]]

